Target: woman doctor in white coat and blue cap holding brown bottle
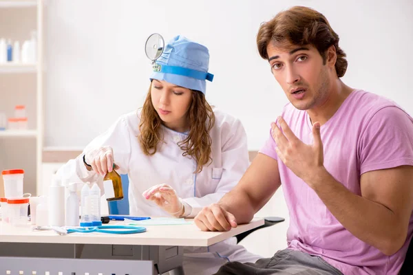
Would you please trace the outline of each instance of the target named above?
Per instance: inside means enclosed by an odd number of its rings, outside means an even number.
[[[205,99],[205,80],[213,78],[207,47],[176,36],[153,68],[142,109],[121,116],[58,175],[102,186],[115,163],[129,177],[131,215],[195,217],[244,174],[246,133],[240,120],[213,110]],[[185,248],[183,267],[186,274],[213,274],[227,261],[260,258],[232,238]]]

